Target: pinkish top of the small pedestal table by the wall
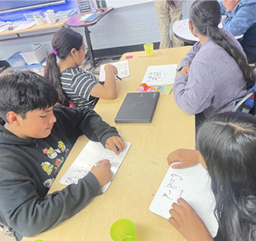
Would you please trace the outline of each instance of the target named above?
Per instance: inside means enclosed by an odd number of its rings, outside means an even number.
[[[67,21],[67,25],[74,26],[74,27],[96,25],[97,22],[100,21],[103,16],[107,15],[107,13],[114,10],[114,7],[102,7],[102,9],[104,9],[104,12],[102,12],[102,15],[97,17],[97,19],[95,19],[94,21],[80,21],[82,16],[92,13],[92,12],[85,12],[85,13],[79,13],[71,16]]]

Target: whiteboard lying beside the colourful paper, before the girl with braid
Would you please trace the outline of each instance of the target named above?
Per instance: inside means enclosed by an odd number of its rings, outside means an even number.
[[[142,83],[148,86],[168,86],[173,85],[177,74],[178,64],[149,66],[145,72]]]

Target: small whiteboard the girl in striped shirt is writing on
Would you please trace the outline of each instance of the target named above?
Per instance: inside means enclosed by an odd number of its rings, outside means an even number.
[[[128,60],[120,61],[120,62],[115,62],[115,63],[109,63],[117,68],[118,76],[121,78],[129,77],[130,76],[130,69],[129,69],[129,62]],[[106,79],[106,73],[104,70],[106,64],[101,65],[101,70],[100,70],[100,76],[99,76],[99,81],[105,81]]]

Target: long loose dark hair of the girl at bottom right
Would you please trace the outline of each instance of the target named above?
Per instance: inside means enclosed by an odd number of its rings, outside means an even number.
[[[256,118],[225,113],[203,123],[197,149],[216,198],[221,240],[256,240]]]

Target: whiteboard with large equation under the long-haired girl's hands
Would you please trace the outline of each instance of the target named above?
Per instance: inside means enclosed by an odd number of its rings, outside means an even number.
[[[170,217],[168,211],[179,197],[183,197],[193,207],[211,236],[215,237],[218,230],[218,223],[213,213],[216,202],[211,191],[211,178],[201,164],[187,169],[169,167],[149,206],[149,211],[168,219]]]

